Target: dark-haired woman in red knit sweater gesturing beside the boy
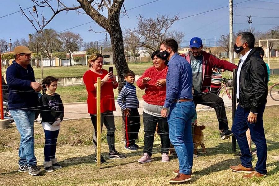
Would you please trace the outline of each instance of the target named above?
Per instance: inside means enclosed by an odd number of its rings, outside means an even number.
[[[160,130],[162,162],[169,161],[169,126],[166,117],[161,117],[161,109],[166,99],[166,74],[167,61],[159,57],[160,51],[155,51],[151,55],[153,66],[148,68],[138,79],[137,85],[140,89],[145,89],[144,99],[144,150],[139,163],[151,162],[152,148],[156,125]]]

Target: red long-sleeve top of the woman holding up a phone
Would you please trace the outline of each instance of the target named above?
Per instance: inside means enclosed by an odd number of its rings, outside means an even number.
[[[96,114],[97,113],[97,90],[94,87],[94,84],[97,82],[97,78],[101,77],[103,79],[105,75],[108,74],[108,71],[102,70],[103,74],[99,75],[91,70],[87,70],[83,75],[83,82],[86,86],[88,92],[87,106],[88,113]],[[114,111],[114,93],[113,89],[118,87],[118,83],[113,85],[111,80],[108,80],[101,86],[101,113],[105,111]]]

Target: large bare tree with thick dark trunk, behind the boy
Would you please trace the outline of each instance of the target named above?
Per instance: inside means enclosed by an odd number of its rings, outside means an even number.
[[[42,32],[45,26],[47,26],[47,24],[50,23],[50,21],[60,12],[69,10],[79,11],[80,9],[82,9],[85,14],[87,14],[92,20],[99,24],[105,30],[105,32],[109,33],[113,52],[113,62],[116,67],[118,81],[120,84],[120,92],[125,84],[124,71],[128,69],[119,20],[120,14],[122,13],[120,11],[124,0],[76,0],[79,5],[73,5],[72,7],[66,6],[66,3],[62,2],[61,0],[56,0],[56,3],[50,3],[46,0],[31,1],[35,4],[35,8],[33,8],[33,13],[31,13],[31,11],[28,9],[30,16],[27,16],[21,7],[20,9],[38,33]],[[47,18],[44,16],[44,14],[38,13],[38,8],[44,10],[48,8],[48,10],[52,12],[52,15]],[[107,17],[100,13],[100,11],[103,12],[104,10],[107,10]],[[126,12],[125,9],[124,12]]]

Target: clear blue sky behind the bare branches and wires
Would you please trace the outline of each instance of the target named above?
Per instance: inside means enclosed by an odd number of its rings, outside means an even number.
[[[134,8],[152,1],[154,0],[126,0],[124,2],[124,6],[126,10],[128,10],[127,13],[129,18],[128,16],[121,15],[120,23],[122,31],[124,28],[135,27],[137,23],[136,17],[139,16],[139,14],[147,18],[155,17],[157,13],[160,15],[166,14],[170,16],[179,14],[179,17],[183,18],[215,8],[228,6],[229,2],[228,0],[159,0],[142,7]],[[236,4],[244,1],[246,0],[234,0],[233,2]],[[56,0],[52,0],[52,2],[56,2]],[[63,2],[69,6],[73,4],[78,5],[75,0],[64,0]],[[21,5],[22,8],[27,8],[33,6],[33,3],[30,0],[2,0],[0,2],[0,17],[19,11],[19,5]],[[250,0],[235,6],[237,6],[237,8],[234,8],[234,15],[252,15],[251,27],[254,27],[256,30],[267,31],[273,27],[279,26],[278,0]],[[131,8],[134,9],[129,10]],[[229,32],[228,14],[229,8],[226,7],[201,15],[192,16],[178,20],[175,22],[172,29],[177,29],[185,33],[182,46],[188,46],[189,40],[195,36],[206,39],[207,46],[214,46],[214,37],[216,37],[216,41],[218,42],[221,34]],[[44,9],[44,15],[46,17],[50,17],[51,13],[49,10]],[[0,18],[0,21],[2,26],[0,38],[4,38],[6,40],[12,38],[12,42],[15,41],[16,38],[28,39],[28,34],[35,32],[31,23],[20,12]],[[46,28],[52,28],[59,32],[90,21],[92,21],[92,19],[88,15],[78,15],[74,11],[69,11],[67,13],[61,12],[55,16]],[[237,32],[239,29],[249,28],[247,17],[234,16],[234,23],[234,32]],[[105,35],[103,33],[97,34],[89,32],[88,29],[90,26],[97,32],[103,31],[103,29],[94,22],[71,29],[71,31],[79,33],[85,42],[105,39]]]

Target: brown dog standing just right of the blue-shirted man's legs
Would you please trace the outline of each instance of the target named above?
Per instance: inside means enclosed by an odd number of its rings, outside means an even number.
[[[202,148],[202,153],[205,153],[206,149],[204,146],[204,136],[202,130],[205,129],[205,126],[198,126],[198,125],[193,125],[194,127],[194,134],[193,134],[193,142],[194,142],[194,154],[197,154],[197,148],[201,146]]]

